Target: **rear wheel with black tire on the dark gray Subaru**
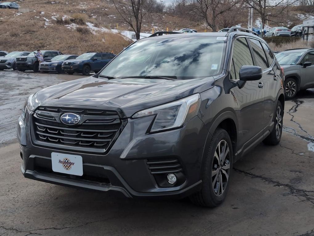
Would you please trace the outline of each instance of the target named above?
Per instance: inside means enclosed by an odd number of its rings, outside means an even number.
[[[277,145],[280,142],[282,135],[282,123],[283,123],[284,109],[281,102],[277,102],[275,114],[273,116],[274,128],[272,132],[263,140],[266,145]]]

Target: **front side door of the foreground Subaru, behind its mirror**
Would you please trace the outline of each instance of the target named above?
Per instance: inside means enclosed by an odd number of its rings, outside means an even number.
[[[239,82],[242,66],[253,66],[253,58],[246,37],[238,37],[233,43],[230,80]],[[242,88],[233,88],[238,103],[239,146],[244,150],[263,135],[265,90],[259,87],[263,79],[246,81]]]

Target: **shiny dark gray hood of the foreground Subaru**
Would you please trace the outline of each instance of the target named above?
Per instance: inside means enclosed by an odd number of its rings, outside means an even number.
[[[214,87],[214,77],[191,80],[111,79],[93,76],[44,88],[33,96],[33,107],[93,107],[135,112],[203,92]]]

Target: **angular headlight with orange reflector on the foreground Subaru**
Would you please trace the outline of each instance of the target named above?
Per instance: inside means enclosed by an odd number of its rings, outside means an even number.
[[[200,104],[200,95],[194,94],[175,102],[139,111],[135,113],[132,118],[155,115],[156,118],[152,128],[150,129],[151,132],[177,128],[184,125],[189,119],[197,115]]]

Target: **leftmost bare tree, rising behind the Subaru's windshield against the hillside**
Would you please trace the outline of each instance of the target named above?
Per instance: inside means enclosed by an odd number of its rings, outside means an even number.
[[[139,39],[143,18],[152,13],[154,1],[149,0],[112,0],[121,20],[128,24]]]

